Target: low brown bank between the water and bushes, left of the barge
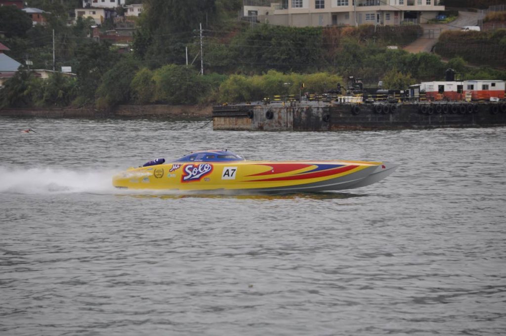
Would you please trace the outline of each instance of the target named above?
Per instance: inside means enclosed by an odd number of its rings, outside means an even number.
[[[110,110],[96,108],[6,108],[0,116],[46,118],[210,118],[212,105],[118,105]]]

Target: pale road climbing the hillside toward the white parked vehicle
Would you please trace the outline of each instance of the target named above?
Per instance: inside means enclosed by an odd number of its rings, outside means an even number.
[[[434,47],[434,45],[437,43],[441,32],[445,30],[459,30],[465,26],[476,26],[478,24],[478,20],[483,18],[484,14],[459,11],[458,18],[450,23],[421,24],[420,26],[424,29],[424,34],[403,49],[410,53],[430,53],[432,47]]]

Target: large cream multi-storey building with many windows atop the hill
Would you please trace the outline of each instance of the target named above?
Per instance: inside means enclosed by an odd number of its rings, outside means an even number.
[[[445,7],[439,0],[280,0],[270,7],[243,6],[243,16],[293,27],[426,23]]]

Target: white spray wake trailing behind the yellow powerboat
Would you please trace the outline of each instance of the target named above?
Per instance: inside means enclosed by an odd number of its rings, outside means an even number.
[[[114,171],[77,171],[0,166],[0,193],[115,193]]]

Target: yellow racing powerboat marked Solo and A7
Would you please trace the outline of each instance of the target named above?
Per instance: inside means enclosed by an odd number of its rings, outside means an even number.
[[[206,150],[169,163],[151,160],[114,176],[112,184],[123,189],[315,192],[364,187],[397,167],[370,161],[247,161],[229,150]]]

